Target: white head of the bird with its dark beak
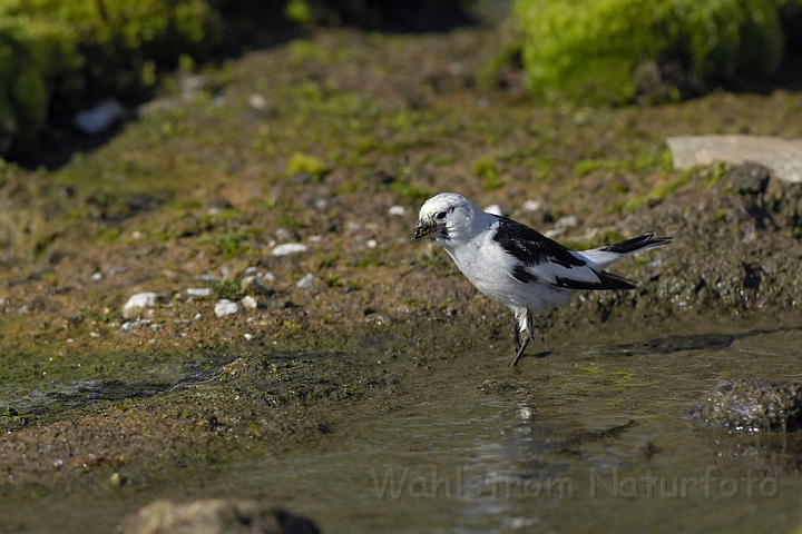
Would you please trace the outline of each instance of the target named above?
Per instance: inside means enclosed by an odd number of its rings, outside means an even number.
[[[456,192],[441,192],[421,206],[414,237],[430,236],[443,245],[473,236],[473,225],[485,212]]]

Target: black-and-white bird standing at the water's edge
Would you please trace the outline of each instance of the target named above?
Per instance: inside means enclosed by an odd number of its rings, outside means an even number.
[[[459,270],[485,296],[512,310],[518,365],[532,339],[532,314],[567,304],[587,289],[634,289],[636,283],[605,267],[642,250],[662,247],[671,237],[640,236],[590,250],[570,250],[508,217],[490,214],[462,195],[441,192],[420,208],[414,238],[429,236],[446,249]]]

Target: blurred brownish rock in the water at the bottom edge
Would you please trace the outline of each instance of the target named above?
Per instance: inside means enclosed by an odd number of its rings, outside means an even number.
[[[156,501],[127,516],[116,534],[317,534],[310,520],[256,501]]]

